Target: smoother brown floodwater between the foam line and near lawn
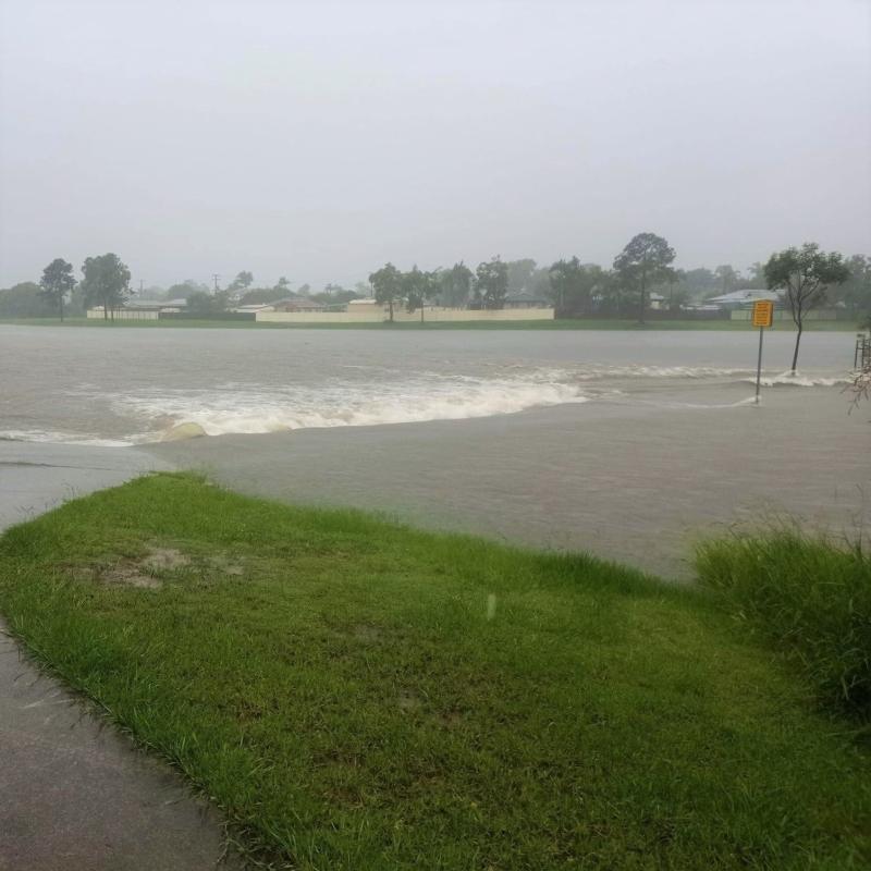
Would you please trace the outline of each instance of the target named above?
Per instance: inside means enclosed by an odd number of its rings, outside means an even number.
[[[871,407],[835,388],[649,392],[515,415],[221,436],[151,445],[235,490],[586,550],[692,576],[700,535],[771,523],[856,537],[871,523]]]

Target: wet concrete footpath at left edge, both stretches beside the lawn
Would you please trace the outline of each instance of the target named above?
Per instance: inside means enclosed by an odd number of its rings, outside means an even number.
[[[160,468],[133,449],[0,441],[0,529]],[[0,871],[242,867],[223,854],[220,815],[40,675],[0,624]]]

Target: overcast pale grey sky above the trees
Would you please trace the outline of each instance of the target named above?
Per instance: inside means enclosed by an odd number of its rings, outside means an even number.
[[[867,0],[0,8],[0,286],[871,254]]]

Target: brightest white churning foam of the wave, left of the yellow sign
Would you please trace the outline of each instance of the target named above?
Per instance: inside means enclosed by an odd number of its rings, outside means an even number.
[[[458,420],[588,401],[575,385],[536,380],[452,378],[395,385],[334,383],[320,389],[241,387],[118,396],[113,408],[119,414],[133,412],[162,431],[194,424],[208,436],[223,436]]]

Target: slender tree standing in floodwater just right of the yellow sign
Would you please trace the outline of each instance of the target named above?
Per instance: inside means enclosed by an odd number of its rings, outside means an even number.
[[[798,346],[805,330],[805,318],[825,300],[829,287],[843,284],[849,277],[844,256],[837,252],[821,252],[815,242],[806,242],[800,248],[790,247],[772,254],[765,263],[769,290],[785,292],[789,314],[798,331],[793,352],[793,372],[798,366]]]

